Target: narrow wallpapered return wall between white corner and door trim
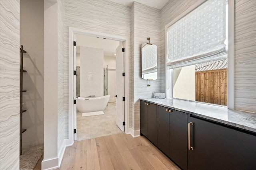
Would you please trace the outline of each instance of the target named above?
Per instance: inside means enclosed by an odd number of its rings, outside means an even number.
[[[64,139],[68,138],[68,133],[65,133],[64,123],[65,115],[68,115],[68,94],[65,94],[65,81],[68,81],[68,77],[65,77],[64,71],[64,1],[57,0],[58,2],[58,153],[61,150]],[[66,68],[68,69],[68,67]],[[67,103],[65,103],[65,100]],[[67,135],[65,135],[67,134]]]

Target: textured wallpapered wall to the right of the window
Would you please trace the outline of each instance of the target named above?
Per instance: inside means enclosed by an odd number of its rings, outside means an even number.
[[[256,1],[235,1],[234,107],[256,113]]]

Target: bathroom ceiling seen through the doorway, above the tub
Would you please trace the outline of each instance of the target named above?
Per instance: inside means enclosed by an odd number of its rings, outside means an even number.
[[[115,57],[119,41],[76,34],[76,53],[80,53],[80,46],[103,49],[104,56]]]

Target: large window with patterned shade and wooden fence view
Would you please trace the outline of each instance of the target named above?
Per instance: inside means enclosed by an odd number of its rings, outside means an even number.
[[[166,27],[168,98],[227,106],[227,4],[207,0]]]

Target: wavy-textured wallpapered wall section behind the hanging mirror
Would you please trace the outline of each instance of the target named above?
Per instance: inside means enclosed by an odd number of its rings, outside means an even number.
[[[161,73],[158,72],[157,80],[148,80],[141,77],[141,44],[155,44],[160,67],[160,10],[144,4],[134,2],[134,130],[140,129],[140,98],[152,98],[153,92],[160,92]]]

